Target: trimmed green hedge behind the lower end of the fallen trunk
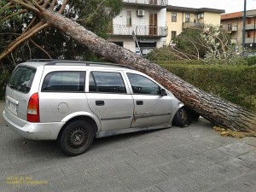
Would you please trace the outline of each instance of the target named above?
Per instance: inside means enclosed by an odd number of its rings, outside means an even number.
[[[256,111],[256,67],[160,64],[201,90]]]

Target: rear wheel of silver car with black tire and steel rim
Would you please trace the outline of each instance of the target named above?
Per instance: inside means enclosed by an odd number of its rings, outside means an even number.
[[[92,125],[84,120],[75,120],[67,124],[58,137],[62,151],[70,156],[84,154],[94,139]]]

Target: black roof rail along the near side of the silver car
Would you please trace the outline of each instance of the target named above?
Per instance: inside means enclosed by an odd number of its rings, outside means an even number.
[[[106,67],[125,67],[129,69],[135,69],[134,67],[122,65],[122,64],[116,64],[112,62],[95,62],[95,61],[75,61],[75,60],[49,60],[48,63],[45,64],[45,66],[52,66],[52,65],[58,65],[58,64],[69,64],[69,65],[85,65],[85,66],[106,66]]]

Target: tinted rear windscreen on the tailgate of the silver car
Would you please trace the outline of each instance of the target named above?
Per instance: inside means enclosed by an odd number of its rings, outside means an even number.
[[[9,79],[9,87],[23,93],[28,93],[37,69],[32,67],[16,67]]]

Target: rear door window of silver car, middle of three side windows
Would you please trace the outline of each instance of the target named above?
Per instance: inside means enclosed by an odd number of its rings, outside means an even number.
[[[121,73],[91,72],[89,91],[103,93],[126,93],[125,83]]]

